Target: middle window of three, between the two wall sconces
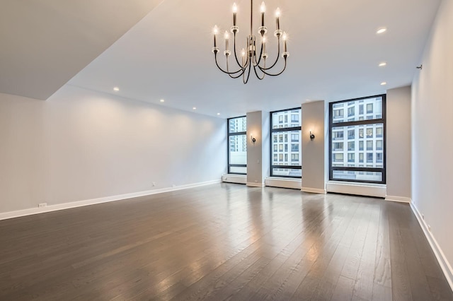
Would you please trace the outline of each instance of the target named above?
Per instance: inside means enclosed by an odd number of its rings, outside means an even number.
[[[270,112],[270,176],[302,177],[299,107]]]

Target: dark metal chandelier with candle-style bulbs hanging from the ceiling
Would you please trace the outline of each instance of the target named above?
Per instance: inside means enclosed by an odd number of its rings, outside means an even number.
[[[245,48],[242,48],[240,53],[240,57],[238,58],[236,54],[236,34],[239,33],[239,27],[236,25],[236,13],[238,8],[236,3],[233,4],[233,26],[231,26],[230,32],[233,34],[233,52],[234,52],[234,61],[236,61],[237,65],[234,71],[231,71],[229,68],[229,56],[231,55],[231,51],[229,50],[229,33],[225,31],[224,38],[225,38],[225,51],[224,56],[226,57],[226,69],[222,69],[219,66],[219,62],[217,61],[217,54],[219,53],[219,47],[217,47],[217,35],[219,34],[219,28],[217,25],[214,26],[214,47],[212,47],[212,52],[214,53],[215,64],[217,67],[224,73],[228,74],[231,78],[239,78],[242,76],[243,83],[248,82],[248,78],[250,77],[251,69],[253,67],[253,71],[258,79],[263,79],[265,75],[268,76],[278,76],[283,73],[286,69],[287,57],[289,57],[289,52],[287,52],[287,34],[280,29],[280,8],[277,8],[275,11],[275,32],[274,36],[277,37],[277,58],[275,61],[270,64],[270,66],[266,66],[266,59],[268,59],[269,54],[266,52],[266,42],[268,33],[268,28],[264,25],[264,15],[266,11],[266,7],[264,2],[261,4],[261,26],[258,28],[258,34],[261,37],[261,47],[260,51],[257,51],[256,46],[256,36],[253,35],[253,0],[250,1],[251,9],[250,9],[250,35],[247,36],[247,45]],[[273,69],[277,61],[280,59],[280,40],[283,40],[284,49],[285,51],[282,52],[282,58],[285,59],[285,65],[281,71],[277,73],[270,73],[270,69]],[[234,63],[233,63],[234,64]]]

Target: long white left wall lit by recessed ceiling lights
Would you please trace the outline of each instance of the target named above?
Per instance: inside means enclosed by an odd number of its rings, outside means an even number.
[[[0,94],[0,213],[219,180],[225,133],[224,119],[69,85]]]

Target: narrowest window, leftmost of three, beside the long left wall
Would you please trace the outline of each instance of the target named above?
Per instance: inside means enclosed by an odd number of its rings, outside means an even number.
[[[228,173],[247,174],[247,118],[228,119]]]

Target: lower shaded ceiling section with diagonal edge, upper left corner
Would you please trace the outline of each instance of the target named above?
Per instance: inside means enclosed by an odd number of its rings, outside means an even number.
[[[162,0],[0,0],[0,92],[46,100]]]

